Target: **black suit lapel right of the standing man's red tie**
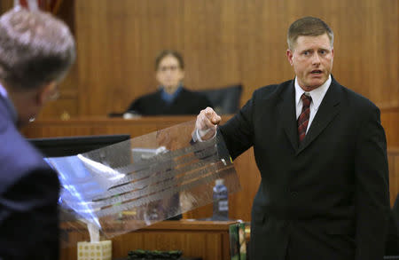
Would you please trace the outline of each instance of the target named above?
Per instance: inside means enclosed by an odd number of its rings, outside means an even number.
[[[308,133],[301,142],[296,154],[300,154],[307,146],[309,146],[320,133],[325,130],[332,119],[340,113],[340,85],[332,79],[332,83],[328,91],[325,93],[317,114],[311,123]]]

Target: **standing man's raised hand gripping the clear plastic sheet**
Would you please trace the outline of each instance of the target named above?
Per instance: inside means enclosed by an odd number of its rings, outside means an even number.
[[[216,114],[214,109],[207,107],[201,110],[200,114],[197,115],[197,121],[195,122],[195,128],[198,130],[200,138],[207,140],[213,138],[216,132],[216,126],[221,122],[222,118]]]

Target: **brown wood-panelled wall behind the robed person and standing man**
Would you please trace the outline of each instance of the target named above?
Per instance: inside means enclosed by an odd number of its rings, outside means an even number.
[[[76,0],[79,114],[104,115],[156,89],[153,59],[184,54],[193,90],[293,78],[286,29],[302,16],[335,32],[333,75],[383,108],[399,107],[396,0]]]

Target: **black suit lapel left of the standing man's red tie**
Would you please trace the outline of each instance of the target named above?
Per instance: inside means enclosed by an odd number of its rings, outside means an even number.
[[[296,113],[295,113],[295,89],[293,81],[286,88],[285,92],[281,95],[281,102],[279,103],[279,118],[283,122],[283,129],[286,136],[291,142],[294,150],[298,149],[298,130],[296,126]]]

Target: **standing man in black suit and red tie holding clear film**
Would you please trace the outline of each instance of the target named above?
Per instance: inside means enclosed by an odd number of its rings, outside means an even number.
[[[382,259],[389,213],[387,147],[372,102],[331,75],[333,34],[306,17],[288,30],[295,78],[254,91],[220,126],[234,159],[254,146],[251,260]],[[207,107],[193,138],[215,136]]]

